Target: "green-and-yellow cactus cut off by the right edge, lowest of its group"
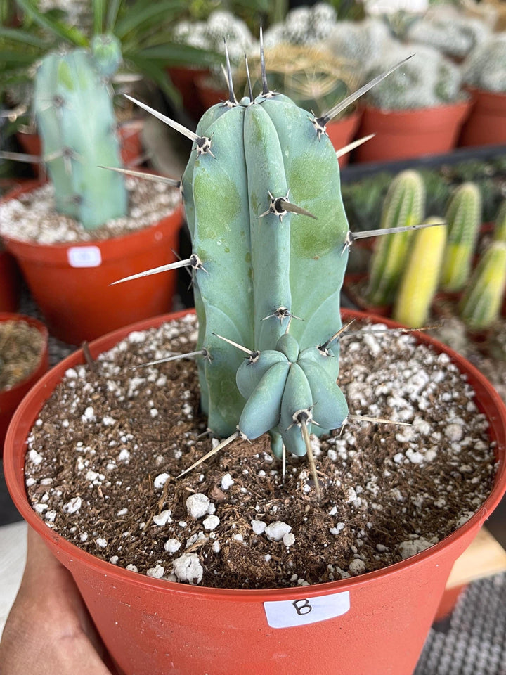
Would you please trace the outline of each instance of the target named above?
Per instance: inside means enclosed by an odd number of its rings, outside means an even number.
[[[497,319],[506,288],[506,242],[494,241],[479,260],[460,301],[462,321],[484,330]]]

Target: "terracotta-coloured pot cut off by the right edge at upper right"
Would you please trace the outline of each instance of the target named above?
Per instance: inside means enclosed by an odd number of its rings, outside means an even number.
[[[492,146],[506,143],[506,94],[471,89],[471,114],[462,127],[460,146]]]

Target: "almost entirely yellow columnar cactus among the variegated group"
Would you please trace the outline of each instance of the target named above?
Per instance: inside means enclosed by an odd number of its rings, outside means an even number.
[[[439,218],[427,222],[441,224]],[[436,293],[445,244],[446,227],[442,225],[415,232],[394,307],[396,321],[411,328],[425,323]]]

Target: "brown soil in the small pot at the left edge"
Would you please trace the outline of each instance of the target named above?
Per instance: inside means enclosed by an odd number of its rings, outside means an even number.
[[[25,380],[39,365],[44,337],[25,321],[0,321],[0,392]]]

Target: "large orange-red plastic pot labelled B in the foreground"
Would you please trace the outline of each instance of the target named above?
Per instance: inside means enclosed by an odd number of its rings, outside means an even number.
[[[158,326],[172,317],[143,321],[100,338],[91,343],[91,354],[109,349],[129,330]],[[344,321],[353,317],[365,315],[343,312]],[[4,458],[8,489],[23,518],[72,573],[120,674],[413,672],[453,563],[506,488],[505,404],[488,380],[458,354],[424,333],[417,339],[436,352],[446,352],[474,387],[500,460],[491,494],[465,525],[413,558],[361,577],[306,588],[237,591],[174,584],[119,569],[62,539],[27,501],[26,438],[65,370],[84,362],[82,350],[32,389],[8,430]]]

